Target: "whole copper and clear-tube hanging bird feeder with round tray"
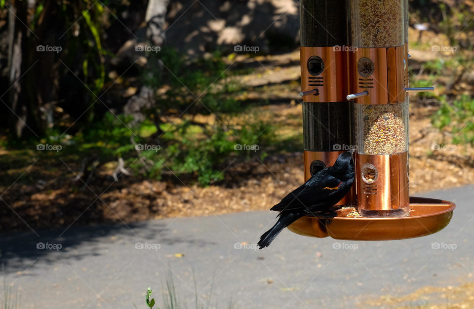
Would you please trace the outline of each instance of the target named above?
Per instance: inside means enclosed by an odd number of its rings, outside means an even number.
[[[337,217],[288,229],[348,240],[442,230],[454,203],[409,196],[408,93],[433,87],[408,88],[408,0],[302,0],[300,15],[305,180],[348,150],[356,179]]]

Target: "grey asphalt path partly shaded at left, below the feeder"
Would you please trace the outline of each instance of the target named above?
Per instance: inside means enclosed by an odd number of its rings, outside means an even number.
[[[196,308],[196,292],[200,304],[210,294],[212,308],[231,301],[241,309],[368,308],[365,301],[383,295],[472,282],[474,186],[418,196],[457,208],[444,230],[407,240],[341,241],[284,230],[256,250],[275,222],[270,211],[3,234],[2,279],[20,293],[21,308],[35,309],[145,309],[149,285],[154,308],[163,309],[169,274],[181,308]]]

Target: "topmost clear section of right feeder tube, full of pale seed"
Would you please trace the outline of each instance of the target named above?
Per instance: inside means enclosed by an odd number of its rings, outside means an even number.
[[[352,43],[359,48],[405,43],[405,0],[349,0]]]

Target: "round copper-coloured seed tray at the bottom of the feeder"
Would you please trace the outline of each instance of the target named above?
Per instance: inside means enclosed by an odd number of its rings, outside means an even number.
[[[337,210],[337,217],[303,217],[288,227],[300,235],[331,236],[343,240],[396,240],[433,234],[444,229],[453,216],[452,202],[410,196],[410,215],[402,218],[347,217],[350,210]],[[325,226],[325,232],[320,227]]]

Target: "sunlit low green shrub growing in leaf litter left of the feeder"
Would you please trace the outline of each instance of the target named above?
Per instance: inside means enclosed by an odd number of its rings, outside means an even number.
[[[274,127],[269,122],[261,121],[258,116],[244,121],[240,126],[217,122],[200,127],[190,121],[168,126],[162,136],[166,145],[158,152],[143,152],[147,159],[155,162],[147,174],[160,178],[163,170],[170,169],[178,175],[194,176],[201,185],[222,180],[224,165],[233,157],[265,156],[263,147],[275,142]],[[261,151],[238,151],[237,144],[258,145]]]

